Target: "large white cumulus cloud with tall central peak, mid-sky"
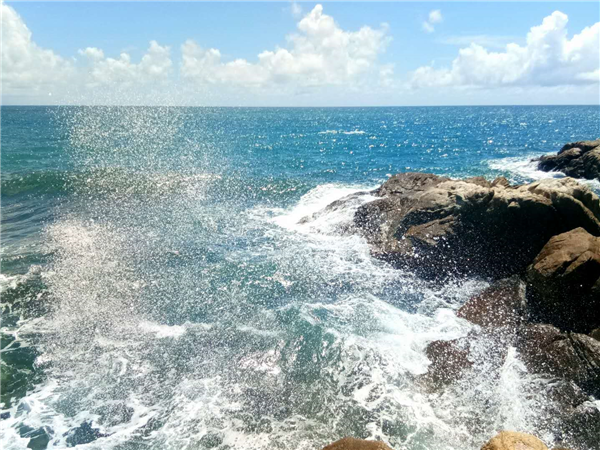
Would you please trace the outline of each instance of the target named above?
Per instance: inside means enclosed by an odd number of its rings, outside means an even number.
[[[225,83],[266,87],[315,87],[356,81],[377,69],[378,55],[391,38],[387,26],[375,30],[342,30],[317,5],[298,23],[299,33],[288,36],[288,48],[266,50],[257,62],[223,62],[217,49],[203,49],[192,40],[181,47],[181,74],[198,84]]]

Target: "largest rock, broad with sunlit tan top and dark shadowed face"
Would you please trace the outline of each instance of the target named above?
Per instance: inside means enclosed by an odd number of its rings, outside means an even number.
[[[570,178],[521,186],[401,173],[359,207],[354,225],[376,257],[426,278],[523,272],[555,234],[600,235],[600,200]]]

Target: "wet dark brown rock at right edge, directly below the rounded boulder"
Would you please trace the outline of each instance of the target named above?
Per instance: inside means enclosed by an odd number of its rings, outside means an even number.
[[[524,326],[517,341],[530,372],[573,382],[588,395],[600,395],[600,342],[552,325]]]

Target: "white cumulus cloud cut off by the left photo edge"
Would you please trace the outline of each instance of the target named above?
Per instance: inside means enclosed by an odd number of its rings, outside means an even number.
[[[2,87],[9,92],[51,93],[74,75],[70,61],[39,47],[17,12],[0,3],[2,12]]]

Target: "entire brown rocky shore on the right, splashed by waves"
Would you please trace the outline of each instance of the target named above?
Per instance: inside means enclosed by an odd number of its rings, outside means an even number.
[[[568,154],[573,167],[579,167],[576,158],[585,158],[584,172],[574,173],[597,177],[599,172],[590,169],[589,161],[600,161],[599,144],[568,144],[559,156]],[[540,164],[550,167],[550,160]],[[490,364],[501,366],[507,354],[516,351],[529,373],[548,380],[554,405],[548,415],[554,419],[558,442],[597,448],[598,196],[572,178],[513,186],[504,178],[453,180],[424,173],[394,175],[370,194],[376,199],[358,208],[349,231],[363,235],[375,257],[430,280],[468,275],[490,282],[457,311],[458,317],[474,325],[471,333],[427,347],[431,365],[421,380],[424,388],[443,390],[469,372]],[[322,213],[351,205],[360,195],[364,193],[340,199]],[[483,341],[488,349],[485,364],[481,364]],[[499,436],[482,449],[547,449],[533,437],[519,447],[515,436]],[[387,448],[348,442],[326,448]]]

